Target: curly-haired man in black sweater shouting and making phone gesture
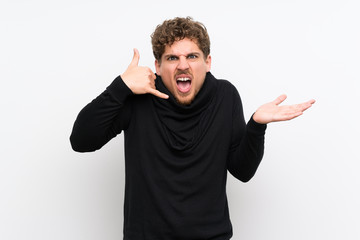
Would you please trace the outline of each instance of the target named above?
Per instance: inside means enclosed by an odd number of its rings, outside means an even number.
[[[124,239],[228,240],[227,171],[249,181],[264,150],[266,124],[295,118],[311,100],[261,106],[245,124],[233,85],[211,73],[206,28],[175,18],[152,35],[156,74],[126,71],[79,113],[75,151],[100,149],[125,133]]]

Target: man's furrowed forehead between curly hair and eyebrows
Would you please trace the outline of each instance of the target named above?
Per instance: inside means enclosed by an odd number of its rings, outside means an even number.
[[[172,45],[166,45],[163,55],[187,55],[189,53],[202,54],[202,51],[196,44],[196,41],[184,38],[182,40],[175,41]]]

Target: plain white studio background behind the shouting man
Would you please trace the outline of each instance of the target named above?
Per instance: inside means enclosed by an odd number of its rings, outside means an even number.
[[[233,239],[360,239],[357,0],[21,1],[0,3],[0,239],[122,239],[123,135],[73,152],[81,108],[130,63],[154,69],[150,34],[192,16],[212,41],[212,73],[248,119],[282,93],[314,98],[268,126],[247,184],[228,179]]]

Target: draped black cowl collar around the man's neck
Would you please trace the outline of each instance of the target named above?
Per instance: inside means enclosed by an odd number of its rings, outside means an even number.
[[[206,133],[215,111],[217,80],[208,72],[204,84],[193,102],[182,105],[165,87],[160,76],[156,88],[169,95],[169,99],[153,96],[155,111],[164,127],[164,133],[171,149],[183,154],[199,143]]]

